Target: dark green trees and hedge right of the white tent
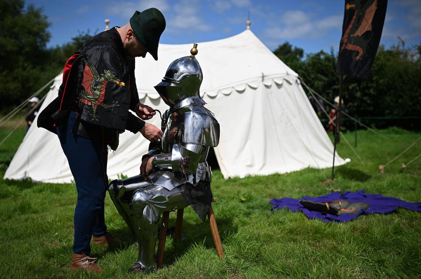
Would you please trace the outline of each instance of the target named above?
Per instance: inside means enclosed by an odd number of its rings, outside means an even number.
[[[400,39],[400,38],[399,38]],[[339,95],[339,75],[336,73],[338,54],[321,50],[302,59],[301,49],[288,42],[274,53],[299,74],[304,82],[333,103]],[[421,116],[421,45],[405,47],[400,42],[388,50],[380,46],[368,79],[344,76],[342,96],[350,116]],[[330,106],[326,107],[328,111]],[[365,124],[384,128],[400,126],[421,129],[421,121],[398,119],[364,120]],[[346,121],[351,128],[353,123]]]

